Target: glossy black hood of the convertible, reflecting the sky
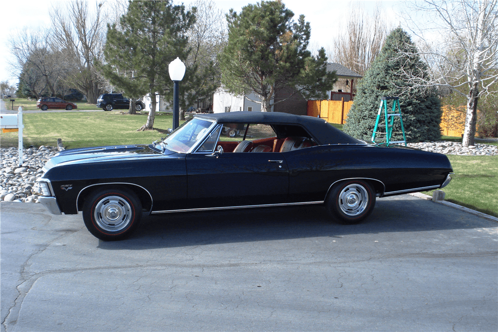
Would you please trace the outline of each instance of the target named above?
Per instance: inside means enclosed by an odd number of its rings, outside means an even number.
[[[48,160],[43,167],[43,171],[46,172],[55,166],[62,165],[130,159],[136,160],[170,154],[174,154],[174,152],[165,150],[163,153],[160,150],[153,148],[152,145],[116,145],[70,149],[61,151]]]

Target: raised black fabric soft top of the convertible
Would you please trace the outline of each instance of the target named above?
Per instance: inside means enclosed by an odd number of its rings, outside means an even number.
[[[324,144],[362,144],[364,142],[342,132],[324,119],[306,115],[294,115],[282,112],[237,111],[227,113],[196,114],[216,120],[218,123],[264,123],[293,124],[305,128],[317,143]]]

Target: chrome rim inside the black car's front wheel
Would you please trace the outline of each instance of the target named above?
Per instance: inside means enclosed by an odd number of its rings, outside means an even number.
[[[131,221],[131,205],[119,196],[108,196],[97,203],[94,217],[100,228],[119,231]]]

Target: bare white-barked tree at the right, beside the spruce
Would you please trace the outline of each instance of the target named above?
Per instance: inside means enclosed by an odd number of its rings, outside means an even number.
[[[420,54],[431,67],[431,77],[421,79],[405,71],[403,79],[411,80],[413,86],[438,87],[466,96],[463,145],[472,145],[478,100],[497,93],[497,0],[425,0],[413,6],[436,18],[432,27],[420,28],[410,21],[420,37]]]

